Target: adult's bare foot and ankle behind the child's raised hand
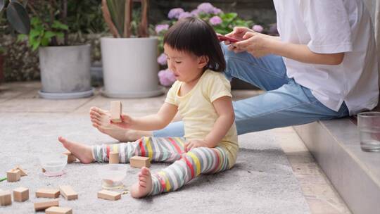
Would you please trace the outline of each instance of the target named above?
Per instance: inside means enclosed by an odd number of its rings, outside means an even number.
[[[127,142],[127,141],[135,141],[140,137],[146,136],[135,130],[125,130],[117,125],[113,125],[110,123],[110,112],[103,110],[97,107],[90,108],[90,118],[92,122],[92,126],[96,127],[100,132],[107,134],[118,141]]]

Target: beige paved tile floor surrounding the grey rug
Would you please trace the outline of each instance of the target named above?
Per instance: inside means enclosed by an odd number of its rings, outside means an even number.
[[[46,113],[61,113],[62,115],[88,114],[91,106],[109,108],[108,99],[99,94],[88,99],[51,101],[39,99],[37,91],[39,82],[15,82],[0,85],[0,113],[17,114],[25,117],[46,115]],[[260,92],[234,91],[234,99],[243,99]],[[129,106],[123,106],[124,111],[132,115],[146,115],[156,112],[163,102],[164,96],[149,99],[128,99]],[[1,124],[1,121],[0,121]],[[311,213],[350,213],[344,202],[327,180],[326,176],[312,158],[303,142],[298,138],[293,128],[269,130],[270,134],[281,145],[291,163]]]

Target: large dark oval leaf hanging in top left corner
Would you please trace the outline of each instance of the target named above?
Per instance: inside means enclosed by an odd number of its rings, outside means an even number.
[[[6,17],[12,27],[22,34],[29,34],[30,20],[27,11],[18,1],[11,1],[6,8]]]

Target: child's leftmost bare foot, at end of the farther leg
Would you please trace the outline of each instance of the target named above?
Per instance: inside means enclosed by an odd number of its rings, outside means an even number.
[[[75,157],[77,157],[82,163],[92,163],[94,158],[92,157],[91,146],[86,144],[75,143],[73,141],[68,141],[63,137],[58,137],[63,146],[68,149]]]

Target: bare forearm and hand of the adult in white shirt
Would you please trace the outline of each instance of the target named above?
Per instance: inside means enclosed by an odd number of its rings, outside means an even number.
[[[323,65],[339,65],[344,58],[344,53],[315,53],[305,44],[281,42],[258,32],[246,32],[243,39],[245,40],[232,44],[237,48],[236,52],[248,51],[255,57],[275,54],[302,63]]]

